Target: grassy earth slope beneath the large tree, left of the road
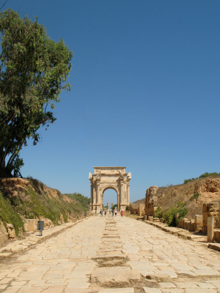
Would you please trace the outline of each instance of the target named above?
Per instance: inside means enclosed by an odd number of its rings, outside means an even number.
[[[36,179],[0,178],[0,229],[4,230],[3,225],[8,229],[7,223],[12,224],[16,236],[25,232],[26,219],[43,220],[53,226],[75,222],[87,211],[89,205],[61,195],[59,190]],[[4,235],[5,230],[0,234]]]

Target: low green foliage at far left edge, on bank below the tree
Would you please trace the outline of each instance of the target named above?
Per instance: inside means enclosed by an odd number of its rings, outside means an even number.
[[[12,224],[14,226],[15,234],[18,236],[18,228],[22,227],[24,231],[23,221],[20,215],[13,209],[10,204],[9,199],[4,198],[0,192],[0,220],[3,222],[4,226],[6,223]]]

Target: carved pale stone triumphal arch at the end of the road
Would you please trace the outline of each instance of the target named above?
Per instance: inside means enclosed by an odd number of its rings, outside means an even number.
[[[107,189],[114,189],[117,193],[119,209],[126,209],[130,203],[131,172],[126,173],[126,167],[93,167],[94,174],[89,172],[91,186],[92,212],[99,212],[103,206],[103,193]]]

